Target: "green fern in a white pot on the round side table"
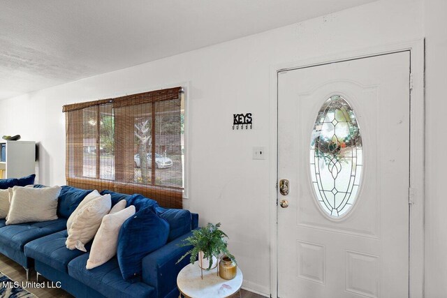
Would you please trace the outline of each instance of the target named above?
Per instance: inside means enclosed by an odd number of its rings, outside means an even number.
[[[226,239],[228,236],[219,230],[221,223],[213,225],[208,223],[205,227],[199,230],[193,230],[193,235],[184,239],[183,243],[179,246],[193,246],[189,251],[187,251],[182,258],[177,261],[177,264],[189,256],[189,262],[194,264],[198,259],[198,256],[202,260],[207,260],[207,267],[203,266],[203,262],[199,260],[199,266],[202,269],[210,270],[217,266],[217,257],[223,253],[230,258],[236,264],[235,257],[228,251]]]

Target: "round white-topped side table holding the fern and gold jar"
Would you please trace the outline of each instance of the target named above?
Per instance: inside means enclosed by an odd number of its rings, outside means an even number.
[[[201,278],[198,264],[189,264],[184,267],[177,276],[177,288],[179,298],[226,298],[239,292],[242,286],[242,271],[237,267],[235,278],[227,281],[217,275],[217,269],[203,270]]]

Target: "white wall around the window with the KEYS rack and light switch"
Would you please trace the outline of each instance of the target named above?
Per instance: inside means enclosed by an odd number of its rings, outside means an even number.
[[[274,201],[269,194],[275,182],[270,181],[270,171],[275,169],[270,169],[269,160],[252,160],[251,149],[268,148],[274,142],[269,125],[271,67],[422,36],[421,0],[377,1],[3,100],[0,135],[20,133],[24,140],[40,142],[39,181],[64,184],[62,105],[187,82],[190,198],[186,206],[200,214],[200,224],[221,221],[230,236],[230,250],[244,271],[244,285],[270,293],[269,212]],[[253,113],[252,131],[231,129],[232,115],[239,112]]]

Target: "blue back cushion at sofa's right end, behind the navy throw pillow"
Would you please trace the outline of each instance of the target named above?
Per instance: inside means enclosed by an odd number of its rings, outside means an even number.
[[[169,223],[168,242],[191,232],[191,212],[185,209],[155,208],[157,214]]]

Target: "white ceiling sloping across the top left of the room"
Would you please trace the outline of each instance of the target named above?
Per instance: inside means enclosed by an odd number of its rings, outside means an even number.
[[[375,0],[1,0],[0,99]]]

